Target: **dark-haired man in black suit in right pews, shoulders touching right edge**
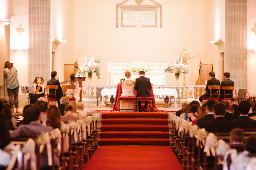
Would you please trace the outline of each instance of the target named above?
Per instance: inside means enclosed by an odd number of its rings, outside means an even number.
[[[232,122],[235,123],[237,127],[242,129],[256,128],[256,121],[248,117],[250,103],[247,101],[241,101],[238,109],[240,111],[240,117],[232,120]]]

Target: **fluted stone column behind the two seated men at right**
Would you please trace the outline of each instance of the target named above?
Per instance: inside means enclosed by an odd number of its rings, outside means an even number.
[[[225,71],[235,89],[247,89],[247,0],[226,0]]]

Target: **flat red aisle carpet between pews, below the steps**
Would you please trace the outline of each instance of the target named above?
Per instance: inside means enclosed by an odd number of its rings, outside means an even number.
[[[182,170],[170,146],[99,146],[83,170]]]

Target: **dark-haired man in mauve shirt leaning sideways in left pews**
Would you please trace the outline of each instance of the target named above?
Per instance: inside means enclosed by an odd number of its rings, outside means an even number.
[[[41,124],[41,115],[40,109],[36,105],[30,106],[26,109],[25,114],[28,115],[29,120],[31,120],[30,124],[21,125],[17,129],[13,130],[10,133],[10,137],[36,137],[41,133],[51,132],[53,129],[50,126],[43,126]],[[55,154],[55,166],[59,167],[58,156]],[[47,158],[47,149],[46,146],[43,149],[43,152],[40,154],[40,167],[41,169],[48,168],[48,158]]]

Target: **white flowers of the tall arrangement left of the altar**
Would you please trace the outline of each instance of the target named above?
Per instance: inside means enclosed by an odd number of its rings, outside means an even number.
[[[94,56],[87,57],[84,56],[85,62],[79,67],[83,74],[87,73],[88,75],[92,75],[92,73],[96,73],[98,79],[101,77],[99,76],[99,71],[101,69],[101,60],[95,60]]]

